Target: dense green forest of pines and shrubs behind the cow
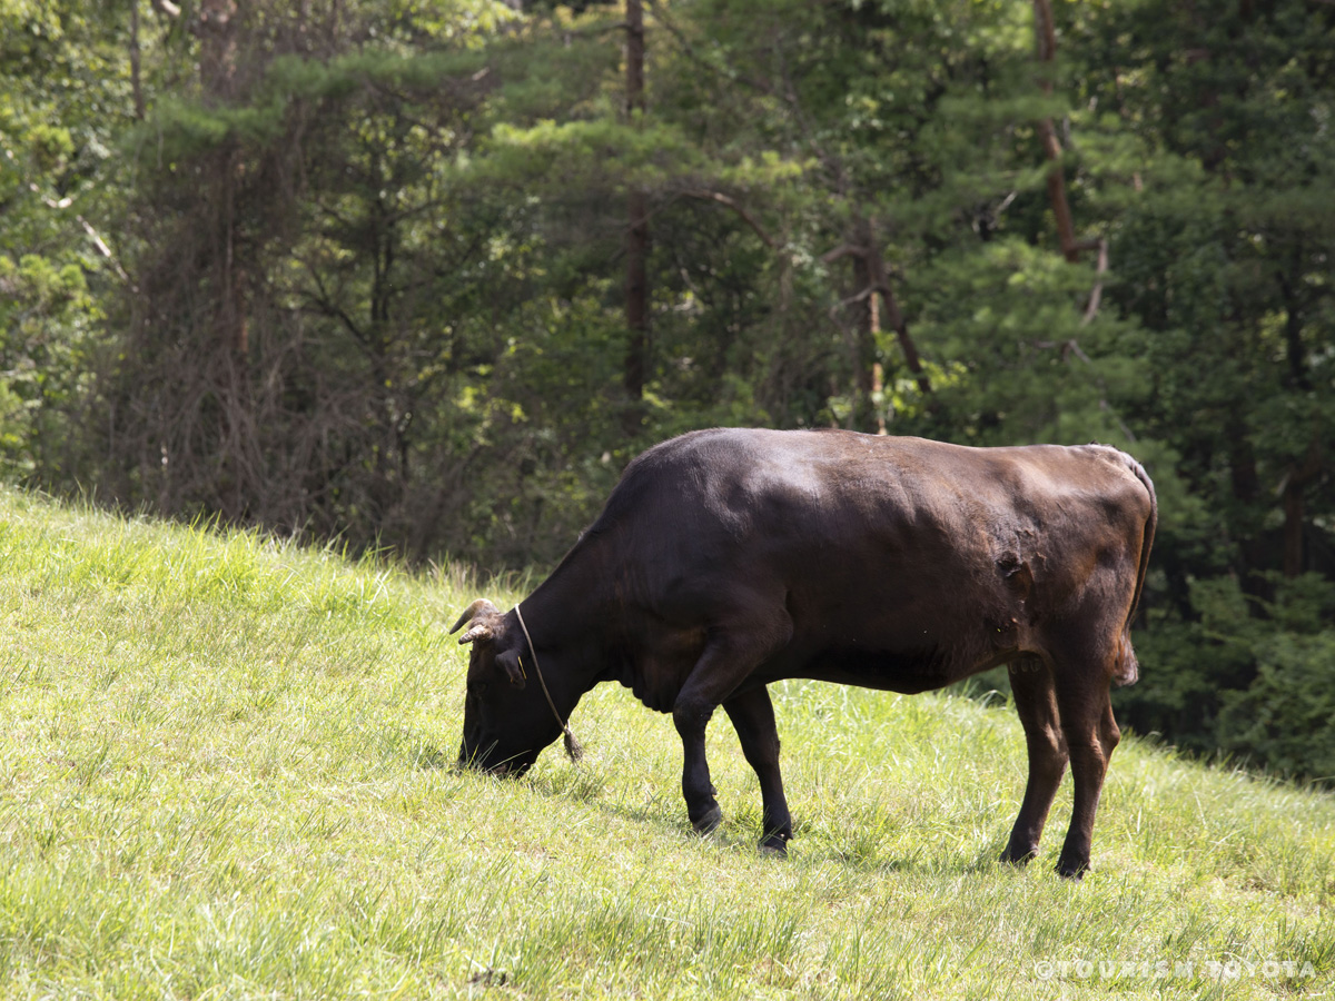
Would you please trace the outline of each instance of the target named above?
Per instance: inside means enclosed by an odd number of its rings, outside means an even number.
[[[0,476],[550,566],[712,424],[1100,440],[1117,713],[1335,777],[1331,0],[0,0]]]

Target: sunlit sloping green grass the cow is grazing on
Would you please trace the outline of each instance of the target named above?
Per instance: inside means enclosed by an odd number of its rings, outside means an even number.
[[[602,687],[530,778],[459,774],[487,591],[0,492],[7,997],[1328,996],[1335,798],[1113,757],[1081,885],[993,862],[1013,713],[776,691],[797,840],[710,729],[693,837],[672,722]],[[1152,663],[1145,671],[1155,670]]]

